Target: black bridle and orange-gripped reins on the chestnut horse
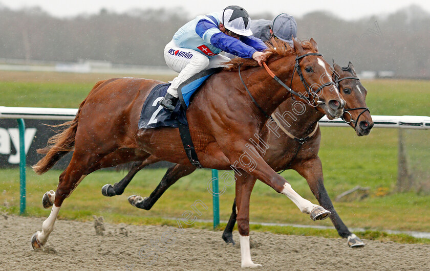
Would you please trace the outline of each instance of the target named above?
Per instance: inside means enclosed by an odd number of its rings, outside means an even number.
[[[297,96],[298,98],[303,99],[303,100],[305,100],[305,101],[308,101],[309,105],[311,105],[311,106],[313,106],[313,107],[316,107],[316,106],[318,106],[319,104],[323,103],[323,102],[319,101],[319,96],[317,95],[317,94],[318,94],[318,92],[320,92],[322,88],[324,88],[324,87],[326,87],[326,86],[329,86],[329,85],[336,85],[336,83],[335,83],[335,82],[333,82],[333,81],[330,81],[330,82],[324,83],[324,84],[322,84],[322,85],[320,85],[320,86],[318,87],[318,89],[316,90],[316,92],[312,92],[312,93],[311,93],[311,92],[310,92],[311,85],[309,85],[309,83],[306,81],[305,77],[303,76],[302,69],[300,68],[300,64],[299,64],[299,60],[300,60],[300,59],[303,59],[303,58],[304,58],[304,57],[306,57],[306,56],[322,56],[322,54],[319,54],[319,53],[308,53],[308,54],[304,54],[304,55],[301,55],[301,56],[297,56],[297,57],[295,58],[296,63],[295,63],[295,65],[294,65],[294,71],[293,71],[293,76],[291,77],[291,83],[290,83],[290,86],[286,85],[286,84],[285,84],[281,79],[279,79],[279,78],[278,78],[278,77],[277,77],[277,76],[276,76],[276,75],[275,75],[275,74],[274,74],[274,73],[269,69],[269,67],[267,66],[267,64],[266,64],[265,62],[263,62],[263,66],[264,66],[264,68],[266,69],[267,73],[270,75],[270,77],[272,77],[276,82],[278,82],[278,83],[279,83],[279,84],[281,84],[284,88],[286,88],[286,89],[287,89],[287,91],[288,91],[290,94],[292,94],[292,95],[294,95],[294,96]],[[259,108],[259,109],[260,109],[260,111],[262,111],[262,112],[263,112],[264,116],[265,116],[266,118],[271,119],[271,120],[273,121],[273,117],[272,117],[272,116],[269,116],[269,115],[266,113],[266,111],[264,111],[264,109],[263,109],[263,108],[261,108],[261,106],[257,103],[257,101],[255,101],[254,97],[252,97],[251,92],[249,91],[248,87],[246,86],[245,82],[244,82],[244,81],[243,81],[243,79],[242,79],[242,75],[241,75],[241,65],[242,65],[242,64],[239,64],[239,78],[241,79],[243,86],[245,87],[246,91],[248,92],[248,95],[251,97],[252,101],[253,101],[253,102],[254,102],[254,104],[257,106],[257,108]],[[302,95],[302,94],[300,94],[300,93],[297,93],[297,92],[293,91],[293,89],[291,88],[291,87],[292,87],[292,85],[293,85],[293,78],[294,78],[294,74],[295,74],[295,72],[296,72],[296,71],[297,71],[298,76],[300,77],[300,81],[302,81],[303,85],[304,85],[304,86],[305,86],[305,88],[306,88],[306,92],[308,93],[308,96],[304,96],[304,95]],[[311,99],[312,97],[313,97],[313,99]],[[317,101],[315,101],[315,98],[318,98],[318,99],[317,99]],[[314,104],[316,104],[316,105],[314,105]]]

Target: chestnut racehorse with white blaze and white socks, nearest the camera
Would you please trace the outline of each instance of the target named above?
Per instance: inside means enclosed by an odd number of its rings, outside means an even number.
[[[296,92],[307,93],[308,102],[328,118],[343,114],[345,101],[340,98],[337,87],[332,85],[330,66],[316,51],[313,39],[302,44],[294,41],[293,48],[282,41],[275,42],[274,47],[268,49],[267,65],[280,81],[273,80],[253,60],[232,60],[230,69],[206,80],[186,111],[201,165],[235,169],[236,219],[244,267],[257,266],[252,262],[249,250],[249,197],[257,178],[286,195],[312,219],[324,219],[330,215],[324,208],[298,195],[282,176],[267,165],[258,148],[258,134],[266,123],[266,116],[270,116],[291,95],[284,87],[286,84]],[[238,74],[240,65],[244,83]],[[293,76],[296,73],[298,75]],[[42,231],[32,237],[33,247],[46,243],[63,200],[70,196],[85,175],[103,167],[144,161],[150,155],[191,165],[178,128],[138,129],[142,105],[159,83],[138,78],[98,82],[80,104],[76,118],[65,124],[68,128],[50,140],[46,156],[34,166],[36,173],[48,171],[61,156],[71,150],[74,152],[71,162],[59,177],[56,192],[44,195],[44,206],[53,206],[42,224]],[[257,138],[252,140],[254,135]],[[252,144],[255,140],[256,146]],[[249,157],[247,160],[244,156],[248,152],[254,155],[252,167]]]

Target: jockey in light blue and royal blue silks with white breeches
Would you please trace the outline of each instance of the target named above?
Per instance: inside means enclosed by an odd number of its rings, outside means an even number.
[[[178,101],[179,85],[191,76],[212,67],[222,66],[230,59],[222,51],[259,64],[265,59],[264,42],[252,36],[246,10],[229,6],[222,13],[197,16],[187,22],[164,48],[164,59],[170,69],[179,73],[160,104],[173,110]]]

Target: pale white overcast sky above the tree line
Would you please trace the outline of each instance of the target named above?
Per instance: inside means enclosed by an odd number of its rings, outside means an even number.
[[[207,3],[207,4],[206,4]],[[303,4],[300,4],[303,3]],[[240,1],[178,1],[178,0],[0,0],[0,6],[6,6],[11,9],[20,9],[24,7],[39,6],[56,17],[70,17],[77,14],[98,13],[100,9],[106,8],[110,11],[122,13],[134,8],[176,8],[181,7],[187,12],[189,17],[202,15],[210,12],[218,12],[229,5],[238,5],[245,8],[250,14],[269,12],[278,14],[282,12],[289,13],[293,16],[302,16],[312,11],[330,11],[336,16],[343,19],[358,19],[364,16],[375,14],[388,14],[410,5],[418,5],[430,13],[430,1],[428,0],[333,0],[333,1],[316,1],[316,0],[240,0]]]

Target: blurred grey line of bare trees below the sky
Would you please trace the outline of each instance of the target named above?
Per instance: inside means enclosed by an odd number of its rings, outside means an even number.
[[[274,15],[251,14],[251,18]],[[39,8],[15,11],[0,6],[0,58],[165,65],[165,44],[190,19],[178,8],[121,14],[102,9],[95,15],[57,18]],[[351,61],[358,71],[430,77],[430,14],[418,6],[359,20],[327,12],[296,20],[298,37],[313,37],[329,62],[334,58],[343,66]]]

